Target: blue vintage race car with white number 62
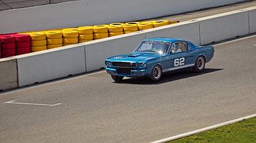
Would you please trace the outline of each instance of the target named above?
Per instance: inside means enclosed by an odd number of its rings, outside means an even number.
[[[114,81],[121,81],[124,76],[148,76],[152,81],[159,81],[168,71],[185,68],[203,71],[213,53],[213,46],[197,46],[176,38],[149,38],[132,53],[107,58],[105,65]]]

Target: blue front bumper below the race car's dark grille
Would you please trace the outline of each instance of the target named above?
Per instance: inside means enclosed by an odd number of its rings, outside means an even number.
[[[106,68],[107,74],[111,74],[113,76],[127,76],[127,77],[139,77],[139,76],[145,76],[146,75],[146,69],[132,69],[131,72],[125,73],[125,74],[120,74],[117,72],[117,69],[113,69],[110,67]]]

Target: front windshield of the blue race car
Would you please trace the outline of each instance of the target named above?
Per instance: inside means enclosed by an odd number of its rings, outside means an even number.
[[[137,47],[136,52],[159,52],[166,53],[171,42],[163,41],[143,41],[139,47]]]

